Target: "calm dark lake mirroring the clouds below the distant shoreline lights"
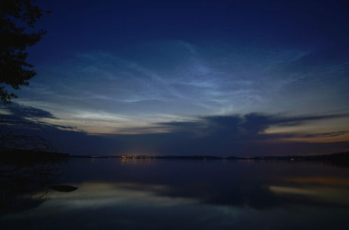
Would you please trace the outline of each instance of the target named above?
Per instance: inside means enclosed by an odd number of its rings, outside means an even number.
[[[325,162],[70,159],[1,186],[0,229],[349,229],[349,169]]]

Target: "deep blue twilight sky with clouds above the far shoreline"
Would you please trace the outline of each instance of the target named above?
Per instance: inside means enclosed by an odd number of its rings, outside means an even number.
[[[38,75],[1,105],[64,153],[349,150],[346,1],[37,1]]]

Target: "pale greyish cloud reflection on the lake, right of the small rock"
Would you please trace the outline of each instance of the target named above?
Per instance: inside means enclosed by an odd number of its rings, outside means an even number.
[[[50,206],[64,208],[98,208],[107,206],[147,206],[165,207],[198,204],[195,199],[172,198],[159,196],[165,190],[163,185],[147,185],[137,183],[99,183],[87,182],[81,190],[70,194],[54,193],[51,195]]]

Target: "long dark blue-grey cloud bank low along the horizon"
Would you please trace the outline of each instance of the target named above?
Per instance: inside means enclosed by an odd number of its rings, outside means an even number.
[[[54,144],[62,151],[70,153],[91,153],[103,151],[105,154],[116,153],[151,153],[174,155],[286,155],[310,154],[316,151],[333,152],[348,150],[348,141],[336,141],[336,137],[348,135],[348,130],[332,132],[300,132],[297,127],[315,122],[332,122],[339,118],[348,118],[349,114],[324,114],[309,116],[285,116],[282,114],[232,114],[229,116],[196,116],[181,121],[163,119],[157,123],[135,125],[122,123],[127,117],[112,114],[85,114],[84,121],[95,125],[118,123],[111,126],[109,132],[88,135],[67,121],[62,125],[60,119],[50,112],[34,107],[13,104],[6,107],[7,113],[1,119],[30,121],[40,125]],[[15,115],[13,112],[17,112]],[[29,114],[29,115],[28,115]],[[103,115],[103,116],[102,116]],[[83,116],[83,114],[81,115]],[[176,116],[172,117],[176,118]],[[53,122],[54,120],[54,122]],[[151,119],[149,120],[151,121]],[[150,125],[149,125],[150,123]],[[266,132],[272,127],[294,127],[293,132]],[[114,132],[112,132],[114,130]],[[327,142],[314,144],[307,141],[320,138]],[[332,141],[330,141],[332,139]]]

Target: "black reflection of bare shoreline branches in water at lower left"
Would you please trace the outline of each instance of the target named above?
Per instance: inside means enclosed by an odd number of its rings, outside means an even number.
[[[43,204],[49,192],[47,185],[64,172],[64,160],[2,160],[0,169],[1,216]]]

